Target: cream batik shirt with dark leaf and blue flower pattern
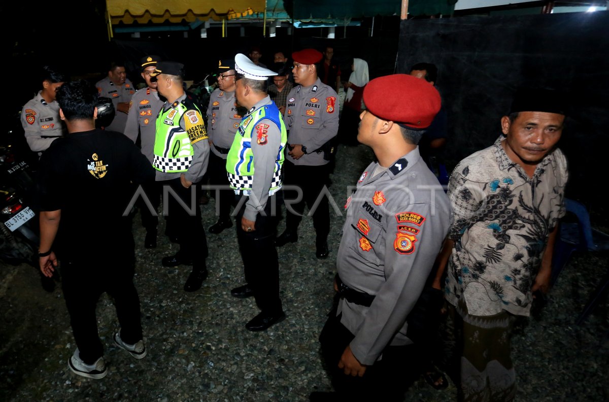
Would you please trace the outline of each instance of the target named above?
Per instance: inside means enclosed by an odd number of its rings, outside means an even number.
[[[529,178],[505,154],[503,139],[462,160],[448,186],[454,247],[445,296],[454,306],[463,298],[473,316],[529,316],[549,233],[565,215],[561,150],[546,155]]]

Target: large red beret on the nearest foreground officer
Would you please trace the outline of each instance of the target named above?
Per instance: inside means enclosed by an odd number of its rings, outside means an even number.
[[[408,74],[371,80],[364,88],[370,113],[410,129],[426,129],[440,111],[442,99],[431,83]]]

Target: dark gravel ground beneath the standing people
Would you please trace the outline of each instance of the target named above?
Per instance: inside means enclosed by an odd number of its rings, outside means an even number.
[[[347,185],[354,185],[373,154],[365,146],[343,147],[330,188],[330,257],[315,258],[312,220],[300,239],[278,249],[281,297],[287,319],[252,333],[245,323],[258,314],[253,298],[231,297],[243,283],[234,228],[208,234],[209,278],[194,293],[182,290],[189,267],[161,266],[175,245],[159,236],[157,249],[143,247],[135,220],[135,284],[141,299],[146,358],[135,360],[114,347],[118,329],[107,295],[97,308],[108,376],[72,374],[66,362],[76,345],[60,286],[44,292],[30,266],[0,270],[0,400],[2,401],[308,401],[313,390],[329,390],[317,337],[331,308],[336,250]],[[205,228],[216,220],[214,201],[202,206]],[[283,230],[284,220],[279,230]],[[161,222],[159,233],[163,233]],[[608,267],[607,255],[576,255],[549,294],[537,318],[523,319],[513,337],[518,401],[607,401],[609,316],[607,298],[583,322],[575,321]],[[379,395],[382,400],[382,394]],[[405,401],[454,401],[456,389],[438,391],[422,379]]]

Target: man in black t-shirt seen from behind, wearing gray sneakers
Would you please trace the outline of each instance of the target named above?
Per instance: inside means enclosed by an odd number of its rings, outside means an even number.
[[[138,147],[121,133],[95,128],[97,90],[84,80],[57,91],[68,135],[56,139],[40,160],[40,269],[50,277],[61,261],[63,293],[77,349],[72,372],[104,378],[104,347],[97,335],[96,305],[108,292],[121,330],[114,342],[136,359],[146,356],[135,253],[128,211],[132,183],[154,180]],[[55,255],[57,252],[57,255]]]

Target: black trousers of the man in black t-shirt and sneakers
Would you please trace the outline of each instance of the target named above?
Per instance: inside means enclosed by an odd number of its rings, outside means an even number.
[[[142,339],[139,296],[133,284],[133,238],[122,243],[126,244],[117,242],[111,249],[99,250],[94,256],[68,253],[61,260],[63,295],[72,333],[80,359],[86,364],[93,364],[104,355],[96,319],[97,300],[104,292],[114,299],[121,339],[131,345]]]

